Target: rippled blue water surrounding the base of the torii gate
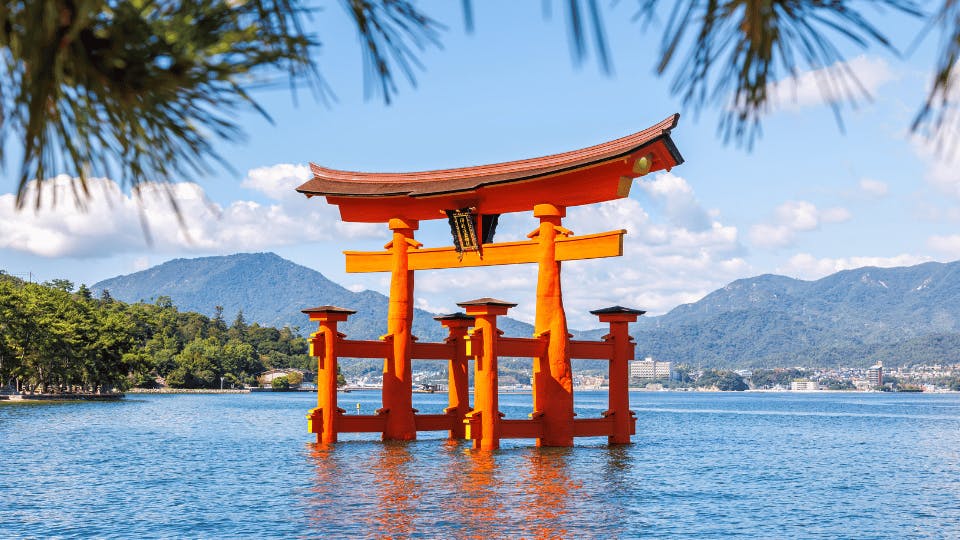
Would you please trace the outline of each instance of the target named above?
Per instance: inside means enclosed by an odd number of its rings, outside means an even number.
[[[0,537],[960,538],[956,394],[636,393],[630,446],[495,453],[441,433],[319,448],[313,401],[0,405]],[[578,393],[578,412],[604,401]]]

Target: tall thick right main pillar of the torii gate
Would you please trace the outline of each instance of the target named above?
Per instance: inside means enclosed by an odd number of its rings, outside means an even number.
[[[556,255],[557,235],[572,233],[560,225],[566,216],[562,206],[538,204],[533,215],[540,219],[540,227],[528,235],[537,238],[540,246],[534,335],[547,335],[548,339],[546,358],[535,358],[533,363],[533,410],[543,417],[543,436],[537,439],[537,446],[573,446],[570,334]]]

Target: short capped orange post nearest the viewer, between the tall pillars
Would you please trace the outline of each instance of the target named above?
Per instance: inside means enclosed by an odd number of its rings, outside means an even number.
[[[500,448],[501,417],[497,394],[497,340],[500,337],[497,316],[506,315],[516,304],[478,298],[457,305],[475,319],[469,350],[473,356],[473,411],[467,414],[467,437],[473,440],[474,450],[496,450]],[[479,436],[474,432],[476,427],[480,429]]]

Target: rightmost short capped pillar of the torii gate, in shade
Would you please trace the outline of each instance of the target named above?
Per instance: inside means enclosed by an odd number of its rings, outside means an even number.
[[[636,417],[630,410],[630,360],[633,360],[636,344],[630,337],[630,323],[646,313],[638,309],[613,306],[591,311],[600,317],[600,322],[610,324],[610,333],[604,340],[613,343],[610,357],[609,405],[604,416],[613,418],[613,435],[608,444],[629,444],[630,435],[636,432]]]

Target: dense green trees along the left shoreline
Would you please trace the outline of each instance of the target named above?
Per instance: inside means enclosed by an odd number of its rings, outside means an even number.
[[[296,328],[232,324],[181,312],[169,297],[128,304],[68,280],[29,283],[0,272],[0,387],[104,392],[131,387],[235,388],[267,369],[316,370]]]

